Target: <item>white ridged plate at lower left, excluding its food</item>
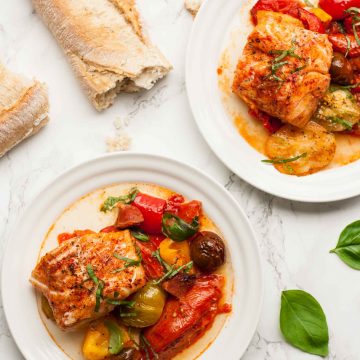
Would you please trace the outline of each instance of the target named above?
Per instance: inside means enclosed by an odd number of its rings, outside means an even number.
[[[218,183],[180,162],[154,155],[120,153],[79,165],[53,181],[25,211],[9,239],[2,272],[4,311],[11,333],[28,360],[68,359],[48,335],[28,278],[47,230],[63,210],[81,196],[123,182],[159,184],[203,202],[218,225],[235,272],[233,312],[202,359],[239,360],[258,323],[262,272],[249,222],[236,201]]]

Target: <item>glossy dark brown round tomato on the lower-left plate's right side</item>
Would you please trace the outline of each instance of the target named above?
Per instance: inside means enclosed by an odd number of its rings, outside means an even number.
[[[225,244],[211,231],[199,232],[190,241],[191,258],[202,271],[211,272],[225,262]]]

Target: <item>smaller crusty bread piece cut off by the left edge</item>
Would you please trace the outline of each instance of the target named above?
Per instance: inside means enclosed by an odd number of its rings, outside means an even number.
[[[0,157],[48,122],[46,87],[0,64]]]

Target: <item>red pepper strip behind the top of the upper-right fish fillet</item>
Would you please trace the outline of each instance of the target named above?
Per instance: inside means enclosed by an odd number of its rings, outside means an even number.
[[[290,15],[299,19],[306,29],[321,34],[325,33],[325,27],[321,20],[315,14],[305,10],[303,4],[297,0],[259,0],[250,11],[255,24],[257,23],[256,14],[259,10]]]

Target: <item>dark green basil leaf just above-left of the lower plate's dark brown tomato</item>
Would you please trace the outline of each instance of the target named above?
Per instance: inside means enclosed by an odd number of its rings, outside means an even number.
[[[162,232],[174,241],[184,241],[195,235],[199,230],[199,218],[196,216],[191,224],[178,216],[165,213],[162,218]]]

